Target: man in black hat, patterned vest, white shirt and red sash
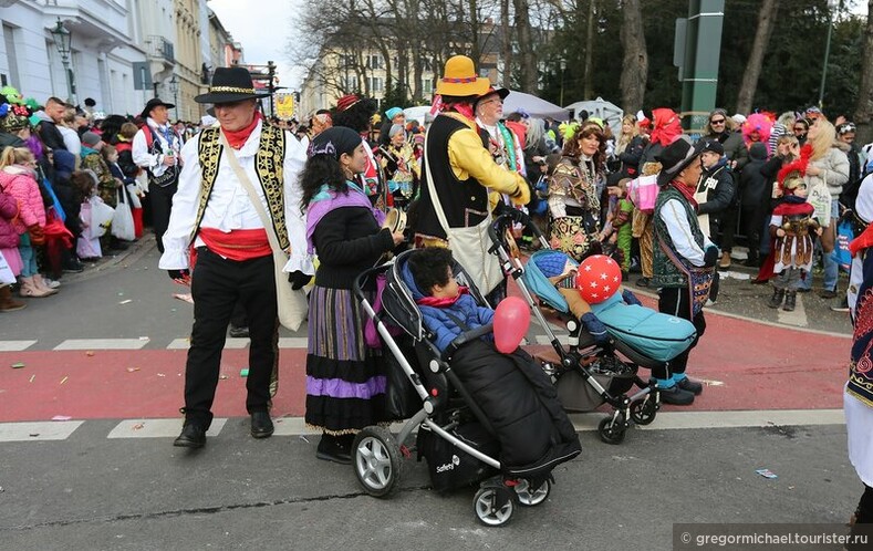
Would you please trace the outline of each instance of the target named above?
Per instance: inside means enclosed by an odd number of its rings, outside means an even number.
[[[288,260],[278,268],[291,272],[294,289],[314,273],[298,183],[306,154],[288,132],[263,119],[257,111],[261,95],[246,69],[219,67],[209,92],[194,98],[215,104],[220,127],[205,128],[181,149],[178,191],[159,262],[172,279],[187,281],[190,247],[197,250],[190,276],[194,329],[185,368],[185,425],[174,446],[206,444],[225,334],[237,303],[246,310],[251,339],[246,381],[251,435],[273,434],[269,406],[278,382],[277,284],[288,281],[277,281],[271,243],[285,252]],[[303,314],[294,323],[302,322]]]

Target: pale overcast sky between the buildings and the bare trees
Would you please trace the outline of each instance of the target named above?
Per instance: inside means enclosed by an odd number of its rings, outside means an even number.
[[[294,71],[285,54],[288,37],[293,32],[292,19],[295,7],[303,0],[209,0],[209,7],[218,14],[221,24],[242,44],[246,63],[277,64],[279,85],[297,89],[303,79]],[[257,7],[257,8],[256,8]]]

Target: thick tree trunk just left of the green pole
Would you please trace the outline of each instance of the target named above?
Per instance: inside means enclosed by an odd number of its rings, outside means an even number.
[[[643,11],[641,0],[624,0],[622,12],[621,40],[624,49],[622,64],[622,108],[625,113],[636,113],[643,107],[648,77],[648,52],[643,34]]]

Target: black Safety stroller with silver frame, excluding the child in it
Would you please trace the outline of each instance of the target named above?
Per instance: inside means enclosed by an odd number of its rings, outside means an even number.
[[[470,357],[470,351],[487,346],[480,337],[489,334],[492,326],[461,333],[440,353],[404,281],[402,270],[412,253],[414,251],[403,252],[355,279],[355,293],[384,343],[386,370],[391,372],[386,393],[389,414],[397,419],[408,418],[396,436],[382,426],[365,427],[357,434],[352,445],[355,477],[368,495],[387,497],[398,487],[403,460],[416,451],[418,460],[426,459],[436,490],[448,491],[478,484],[479,490],[474,498],[476,517],[486,526],[501,526],[510,520],[517,506],[532,507],[545,501],[553,482],[552,469],[580,454],[579,439],[549,377],[530,356],[517,352],[510,362],[518,362],[520,367],[512,376],[531,391],[520,393],[513,407],[533,404],[532,407],[539,408],[533,409],[539,415],[536,419],[545,420],[537,424],[536,433],[549,435],[545,436],[549,444],[543,448],[545,453],[537,451],[537,459],[526,465],[501,464],[498,457],[506,459],[507,448],[512,447],[506,446],[509,433],[485,410],[488,399],[475,396],[480,387],[465,383],[460,360]],[[457,262],[453,271],[459,283],[469,288],[477,303],[487,305]],[[368,278],[383,277],[382,310],[377,312],[362,288]],[[489,361],[487,368],[480,372],[491,372],[492,364]],[[533,439],[537,438],[539,436]],[[515,449],[534,447],[526,440],[518,443]]]

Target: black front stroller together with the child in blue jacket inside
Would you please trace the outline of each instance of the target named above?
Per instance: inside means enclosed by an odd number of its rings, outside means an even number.
[[[402,349],[402,339],[391,336],[378,314],[371,318],[424,407],[396,439],[380,427],[358,434],[353,466],[363,488],[381,497],[396,486],[397,443],[403,445],[418,427],[418,457],[427,460],[436,489],[455,489],[499,472],[481,482],[474,500],[481,522],[501,524],[515,503],[542,502],[552,469],[581,450],[549,377],[523,351],[495,350],[493,311],[482,305],[478,290],[459,284],[456,278],[466,281],[466,273],[447,249],[407,251],[373,270],[389,270],[382,304],[394,324],[413,337],[414,352]],[[372,311],[365,301],[363,305]],[[429,365],[429,373],[415,363]],[[397,460],[380,462],[385,456]]]

